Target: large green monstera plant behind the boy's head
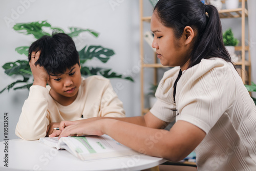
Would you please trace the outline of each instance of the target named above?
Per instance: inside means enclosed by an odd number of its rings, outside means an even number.
[[[44,28],[44,29],[43,29]],[[46,20],[42,22],[32,22],[32,23],[18,23],[13,26],[13,29],[19,33],[23,33],[26,35],[32,34],[36,39],[44,35],[51,35],[51,32],[60,32],[65,33],[61,28],[52,27]],[[46,32],[44,30],[50,30]],[[81,29],[70,27],[68,34],[70,37],[76,37],[82,32],[89,32],[93,36],[98,37],[98,33],[90,30],[90,29]],[[17,53],[23,56],[28,56],[28,49],[29,46],[20,46],[15,49]],[[107,62],[111,56],[115,53],[111,49],[104,48],[102,46],[92,46],[86,45],[80,51],[78,51],[80,57],[80,64],[81,64],[81,74],[83,76],[90,76],[90,75],[102,75],[106,78],[122,78],[130,81],[134,81],[132,77],[125,77],[121,74],[117,74],[112,71],[112,69],[108,68],[100,68],[100,67],[90,67],[86,65],[88,60],[93,58],[97,58],[101,62]],[[6,86],[3,90],[0,91],[0,94],[3,93],[5,90],[17,90],[17,89],[29,89],[32,85],[32,72],[29,67],[28,59],[25,60],[16,60],[14,62],[7,62],[3,66],[5,73],[9,76],[22,76],[23,79],[18,79]]]

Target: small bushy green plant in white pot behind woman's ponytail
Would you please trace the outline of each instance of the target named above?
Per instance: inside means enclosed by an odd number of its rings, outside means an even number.
[[[234,47],[238,45],[239,40],[234,38],[233,32],[230,29],[226,30],[223,34],[223,43],[233,62],[237,62],[238,57],[234,53]]]

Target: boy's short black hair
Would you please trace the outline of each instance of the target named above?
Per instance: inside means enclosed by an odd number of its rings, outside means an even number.
[[[52,36],[42,36],[29,47],[29,61],[32,52],[40,51],[40,57],[35,66],[44,67],[48,74],[63,74],[76,63],[79,65],[79,55],[72,38],[65,33],[53,33]]]

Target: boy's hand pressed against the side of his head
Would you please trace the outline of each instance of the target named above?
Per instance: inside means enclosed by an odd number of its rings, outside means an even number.
[[[35,66],[35,62],[39,59],[39,57],[40,57],[40,51],[36,53],[35,52],[31,53],[31,60],[29,62],[29,66],[31,68],[31,71],[34,77],[33,85],[46,87],[46,84],[50,77],[44,67],[40,67],[39,65]]]

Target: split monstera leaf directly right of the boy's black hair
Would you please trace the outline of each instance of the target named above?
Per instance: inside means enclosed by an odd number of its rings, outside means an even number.
[[[84,47],[79,51],[80,62],[84,63],[93,57],[98,58],[101,62],[107,62],[115,52],[111,49],[103,48],[102,46],[89,46]]]

